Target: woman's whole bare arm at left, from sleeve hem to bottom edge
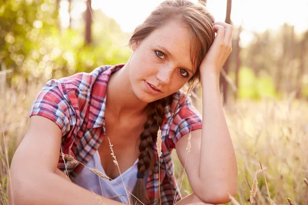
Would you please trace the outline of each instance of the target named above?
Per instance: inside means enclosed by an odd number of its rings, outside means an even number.
[[[11,164],[10,204],[121,204],[60,176],[57,170],[62,133],[50,119],[30,117],[28,132]]]

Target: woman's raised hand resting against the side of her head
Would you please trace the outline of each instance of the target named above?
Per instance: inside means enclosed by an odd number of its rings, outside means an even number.
[[[201,62],[201,76],[205,73],[218,75],[232,52],[232,26],[223,22],[216,22],[213,29],[217,35]]]

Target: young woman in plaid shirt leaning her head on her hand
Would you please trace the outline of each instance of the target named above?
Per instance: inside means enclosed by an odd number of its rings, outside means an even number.
[[[109,137],[126,190],[144,204],[173,204],[179,189],[170,153],[175,148],[184,166],[191,131],[185,171],[194,193],[179,196],[177,204],[228,202],[237,191],[237,161],[218,76],[231,44],[232,27],[214,23],[204,5],[165,1],[134,31],[129,40],[133,52],[125,65],[50,80],[37,95],[28,132],[12,160],[10,201],[127,202]],[[198,80],[202,117],[179,91]],[[100,180],[80,163],[65,163],[61,152],[113,180]],[[140,203],[128,195],[131,204]]]

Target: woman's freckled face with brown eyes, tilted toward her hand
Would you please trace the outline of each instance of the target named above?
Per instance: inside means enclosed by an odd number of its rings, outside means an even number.
[[[154,30],[131,48],[130,83],[136,96],[146,103],[177,92],[194,75],[189,30],[179,21]]]

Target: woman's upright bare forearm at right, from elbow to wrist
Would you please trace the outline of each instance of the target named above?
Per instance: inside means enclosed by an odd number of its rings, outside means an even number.
[[[203,122],[199,178],[202,187],[211,192],[235,195],[237,161],[220,98],[218,76],[206,73],[201,80]]]

